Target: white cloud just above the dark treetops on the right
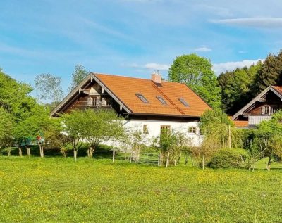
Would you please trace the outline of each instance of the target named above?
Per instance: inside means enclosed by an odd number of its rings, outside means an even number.
[[[243,68],[245,66],[250,67],[252,64],[256,64],[259,60],[264,61],[263,59],[257,60],[242,60],[235,62],[226,62],[226,63],[215,63],[212,67],[212,70],[216,73],[216,75],[220,75],[221,72],[235,70],[236,68]]]

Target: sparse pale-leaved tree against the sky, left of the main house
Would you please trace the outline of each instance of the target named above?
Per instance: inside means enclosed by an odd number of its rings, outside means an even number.
[[[50,73],[37,75],[35,77],[35,88],[40,92],[40,99],[49,99],[55,102],[55,107],[63,98],[61,88],[61,77],[55,77]]]

